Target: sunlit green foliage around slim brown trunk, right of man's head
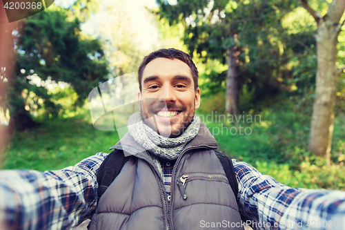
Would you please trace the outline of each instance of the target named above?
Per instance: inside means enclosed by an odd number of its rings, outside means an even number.
[[[242,109],[247,109],[281,90],[295,90],[296,87],[309,90],[313,87],[314,72],[306,70],[305,66],[299,67],[299,61],[308,60],[306,64],[311,68],[315,64],[315,59],[305,58],[311,56],[306,53],[306,47],[310,50],[315,44],[311,30],[304,31],[304,27],[286,29],[290,26],[288,20],[295,19],[291,12],[298,4],[299,1],[293,0],[180,0],[170,6],[161,0],[158,14],[171,25],[184,25],[184,44],[190,55],[197,55],[201,61],[207,63],[212,59],[226,64],[226,50],[235,48],[239,61],[239,89],[242,91],[240,104],[244,106]],[[304,15],[308,13],[304,12]],[[299,55],[304,53],[306,55]],[[295,77],[299,79],[295,81]],[[225,90],[225,70],[201,72],[201,78],[208,79],[204,81],[208,93]],[[248,92],[251,98],[246,95]],[[243,95],[248,101],[242,103]]]

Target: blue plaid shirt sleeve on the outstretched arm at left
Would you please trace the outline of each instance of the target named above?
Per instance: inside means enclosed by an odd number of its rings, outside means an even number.
[[[70,229],[96,208],[97,153],[58,171],[0,171],[0,224],[8,229]]]

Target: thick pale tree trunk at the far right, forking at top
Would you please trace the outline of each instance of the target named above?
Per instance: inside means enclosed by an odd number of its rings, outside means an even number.
[[[325,17],[313,11],[306,0],[302,4],[317,22],[315,34],[317,44],[317,75],[313,115],[311,117],[311,136],[309,150],[315,155],[331,157],[331,144],[334,126],[334,107],[337,83],[340,73],[337,62],[337,37],[342,24],[339,23],[345,10],[344,0],[333,0]]]

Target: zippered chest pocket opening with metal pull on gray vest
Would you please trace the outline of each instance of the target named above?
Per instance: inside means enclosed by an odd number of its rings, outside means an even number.
[[[192,180],[212,180],[212,181],[218,181],[218,182],[228,182],[228,178],[226,178],[226,175],[218,174],[218,173],[188,173],[182,175],[180,178],[177,179],[177,185],[179,186],[179,191],[181,192],[182,198],[184,200],[187,200],[187,194],[186,194],[186,186],[187,182],[190,182]]]

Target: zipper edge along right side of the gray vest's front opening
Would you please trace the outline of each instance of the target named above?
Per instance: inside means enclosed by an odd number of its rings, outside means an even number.
[[[208,146],[208,145],[197,145],[197,146],[190,146],[189,148],[184,149],[181,154],[179,155],[179,157],[177,157],[177,160],[175,162],[174,167],[172,168],[172,173],[171,173],[171,187],[170,187],[170,194],[171,194],[171,200],[170,203],[168,203],[168,227],[167,230],[172,230],[172,217],[171,217],[171,213],[172,213],[172,204],[174,203],[174,195],[172,193],[172,191],[174,191],[174,185],[175,185],[175,172],[177,169],[177,165],[179,164],[179,162],[181,161],[182,156],[184,155],[184,153],[186,153],[187,151],[190,151],[192,149],[195,148],[210,148],[210,149],[216,149],[217,147],[213,147],[213,146]],[[165,191],[165,190],[164,190]]]

